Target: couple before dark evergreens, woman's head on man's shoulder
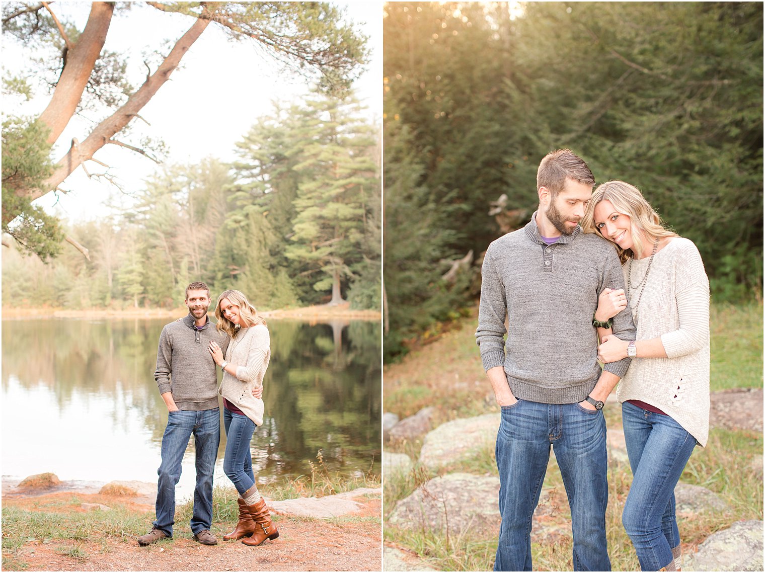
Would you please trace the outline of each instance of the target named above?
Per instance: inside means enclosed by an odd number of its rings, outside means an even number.
[[[551,445],[574,570],[610,571],[601,410],[620,379],[633,473],[622,523],[643,571],[679,570],[673,492],[708,436],[709,284],[695,245],[666,230],[636,187],[608,181],[593,194],[593,185],[568,149],[546,155],[539,210],[483,259],[476,338],[502,410],[495,571],[531,571]]]

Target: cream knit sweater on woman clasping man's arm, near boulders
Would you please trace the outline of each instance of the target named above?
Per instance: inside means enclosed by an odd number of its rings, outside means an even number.
[[[623,266],[632,307],[650,257]],[[627,275],[632,267],[632,285]],[[653,257],[637,312],[636,340],[661,337],[667,358],[636,358],[617,389],[672,416],[702,446],[709,433],[709,281],[698,249],[677,237]]]

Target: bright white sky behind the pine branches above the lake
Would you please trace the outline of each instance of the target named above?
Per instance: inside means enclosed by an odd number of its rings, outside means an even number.
[[[382,109],[382,2],[333,3],[345,6],[350,21],[369,37],[372,61],[356,81],[355,88],[356,96],[369,108],[369,119],[379,122],[379,110]],[[90,3],[55,2],[51,7],[57,15],[74,18],[82,30]],[[191,23],[187,16],[166,14],[136,2],[131,10],[112,18],[105,49],[127,55],[129,79],[137,86],[146,74],[142,54],[157,50],[164,40],[174,43]],[[171,80],[161,86],[142,109],[141,116],[151,126],[139,126],[138,129],[143,134],[164,140],[170,150],[167,164],[187,164],[207,156],[232,160],[235,142],[249,131],[256,118],[271,112],[272,101],[289,103],[308,94],[310,86],[304,78],[286,71],[253,44],[246,40],[229,41],[219,26],[210,24],[184,55],[181,67],[173,72]],[[3,42],[4,71],[18,73],[21,70],[22,49],[15,41]],[[168,50],[169,47],[162,47],[164,54]],[[152,72],[155,69],[156,65]],[[4,98],[3,110],[37,116],[47,101],[45,94],[25,103]],[[104,117],[89,111],[82,115],[72,119],[54,146],[54,161],[67,151],[72,138],[82,141],[90,125]],[[132,138],[118,138],[141,146],[138,130]],[[111,167],[109,173],[126,192],[140,190],[142,181],[162,168],[134,151],[116,145],[107,145],[94,157]],[[93,161],[88,161],[86,167],[91,174],[104,171]],[[131,197],[105,181],[89,179],[82,168],[74,171],[60,187],[68,193],[50,193],[36,203],[73,222],[104,217],[113,210],[132,205]]]

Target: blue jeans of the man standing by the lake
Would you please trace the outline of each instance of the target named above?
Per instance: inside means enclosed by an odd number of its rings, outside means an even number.
[[[194,515],[191,531],[197,535],[213,523],[213,470],[220,444],[220,412],[217,408],[191,412],[168,412],[168,427],[162,436],[162,461],[157,470],[157,519],[154,526],[173,536],[175,484],[181,479],[181,463],[194,434],[197,485],[194,487]]]

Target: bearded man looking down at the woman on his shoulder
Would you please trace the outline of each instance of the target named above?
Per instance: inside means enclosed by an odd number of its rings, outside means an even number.
[[[614,246],[578,224],[593,185],[587,164],[568,149],[546,155],[537,172],[539,210],[491,243],[483,259],[476,339],[502,410],[495,571],[532,570],[532,514],[551,445],[571,506],[574,570],[610,571],[601,409],[629,360],[602,371],[597,363],[598,295],[623,288],[623,277]],[[613,330],[635,339],[629,312],[614,317]]]

